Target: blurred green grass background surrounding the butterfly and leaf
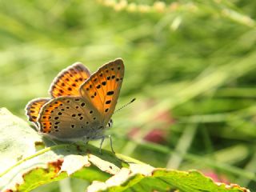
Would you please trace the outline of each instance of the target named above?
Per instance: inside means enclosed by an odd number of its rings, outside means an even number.
[[[58,72],[123,58],[114,149],[256,189],[255,1],[0,1],[0,106],[26,119]],[[99,141],[98,141],[99,142]],[[98,145],[98,142],[94,142]],[[109,141],[105,142],[109,149]],[[66,179],[37,191],[80,191]]]

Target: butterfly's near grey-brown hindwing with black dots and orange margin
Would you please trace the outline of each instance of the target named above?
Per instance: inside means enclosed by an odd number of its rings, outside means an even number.
[[[103,126],[99,114],[81,97],[54,98],[42,107],[38,118],[39,130],[53,138],[73,141],[96,138]]]

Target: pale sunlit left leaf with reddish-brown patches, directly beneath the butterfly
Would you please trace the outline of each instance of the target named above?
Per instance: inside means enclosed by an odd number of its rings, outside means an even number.
[[[53,142],[3,108],[0,134],[1,191],[30,191],[69,176],[89,182],[105,181],[122,164],[114,154],[104,150],[99,154],[94,146],[52,146]]]

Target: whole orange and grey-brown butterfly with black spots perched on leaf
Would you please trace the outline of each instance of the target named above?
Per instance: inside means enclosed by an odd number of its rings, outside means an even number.
[[[26,105],[26,115],[38,132],[60,141],[104,139],[112,126],[124,76],[121,58],[108,62],[94,74],[74,63],[62,70],[50,86],[51,98],[36,98]],[[100,151],[102,148],[102,142]],[[110,138],[112,151],[112,141]]]

